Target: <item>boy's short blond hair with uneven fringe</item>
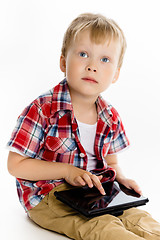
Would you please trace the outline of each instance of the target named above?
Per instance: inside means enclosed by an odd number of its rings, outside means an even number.
[[[124,33],[114,20],[105,18],[101,14],[84,13],[71,22],[63,38],[61,54],[64,57],[66,57],[72,41],[75,40],[76,36],[84,30],[90,31],[91,41],[96,44],[102,43],[106,41],[106,39],[109,42],[112,40],[120,41],[121,52],[118,67],[122,66],[126,50],[126,39]]]

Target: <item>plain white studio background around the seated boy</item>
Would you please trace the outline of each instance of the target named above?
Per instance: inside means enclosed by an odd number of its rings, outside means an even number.
[[[7,172],[5,145],[24,107],[63,79],[63,34],[83,12],[113,18],[125,33],[128,47],[119,81],[103,97],[118,109],[131,142],[119,155],[120,165],[150,199],[143,209],[160,222],[159,1],[5,0],[0,3],[0,228],[5,239],[53,239],[53,233],[26,218]]]

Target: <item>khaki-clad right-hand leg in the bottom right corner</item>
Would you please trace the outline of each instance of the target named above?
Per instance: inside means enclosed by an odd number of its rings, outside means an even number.
[[[156,222],[149,213],[131,208],[119,217],[126,229],[147,240],[160,240],[160,223]]]

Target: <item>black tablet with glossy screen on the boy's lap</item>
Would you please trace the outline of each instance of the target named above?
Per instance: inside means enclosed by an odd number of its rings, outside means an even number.
[[[95,217],[102,214],[121,215],[131,207],[145,205],[149,200],[140,196],[118,182],[102,184],[106,195],[101,195],[95,188],[77,187],[65,191],[56,191],[56,198],[74,208],[86,217]]]

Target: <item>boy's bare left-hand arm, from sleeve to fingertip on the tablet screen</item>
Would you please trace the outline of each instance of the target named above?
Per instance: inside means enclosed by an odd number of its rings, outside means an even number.
[[[23,157],[15,152],[8,156],[8,171],[16,178],[30,181],[65,179],[73,186],[95,185],[101,194],[105,194],[100,183],[101,176],[97,177],[90,172],[60,162],[47,162],[40,159]]]

